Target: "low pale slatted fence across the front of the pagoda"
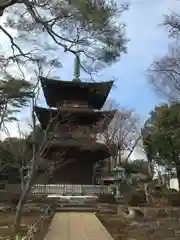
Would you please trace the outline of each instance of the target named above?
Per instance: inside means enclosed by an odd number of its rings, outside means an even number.
[[[33,194],[55,194],[64,196],[98,196],[108,193],[108,187],[103,185],[67,185],[67,184],[49,184],[34,185],[32,187]]]

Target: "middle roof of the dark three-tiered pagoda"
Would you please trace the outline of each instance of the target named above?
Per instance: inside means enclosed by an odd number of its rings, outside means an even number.
[[[36,115],[42,125],[43,129],[47,129],[48,124],[52,118],[57,117],[58,121],[63,123],[75,123],[78,125],[93,125],[103,121],[103,126],[99,128],[105,129],[112,121],[117,110],[111,111],[94,111],[92,109],[81,108],[60,108],[50,109],[43,107],[35,107]],[[68,116],[68,117],[67,117]]]

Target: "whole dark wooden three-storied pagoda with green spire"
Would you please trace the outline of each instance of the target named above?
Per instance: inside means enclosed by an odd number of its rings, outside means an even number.
[[[48,134],[41,157],[55,164],[53,183],[92,184],[94,164],[110,156],[97,134],[107,129],[116,112],[100,111],[113,81],[81,82],[77,64],[73,81],[40,77],[49,108],[35,110]]]

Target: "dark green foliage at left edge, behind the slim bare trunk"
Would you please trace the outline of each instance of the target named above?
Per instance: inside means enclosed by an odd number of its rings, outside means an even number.
[[[0,142],[0,180],[6,180],[9,183],[21,182],[21,174],[24,177],[27,175],[30,161],[32,158],[32,145],[38,147],[42,143],[44,131],[37,125],[35,129],[36,142],[33,143],[33,132],[30,132],[23,138],[8,137],[4,141]],[[39,159],[38,159],[39,160]],[[43,166],[44,162],[37,161],[37,170],[46,169]]]

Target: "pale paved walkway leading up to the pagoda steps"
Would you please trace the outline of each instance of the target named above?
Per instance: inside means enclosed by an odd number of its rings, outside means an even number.
[[[56,213],[46,240],[113,240],[93,213]]]

